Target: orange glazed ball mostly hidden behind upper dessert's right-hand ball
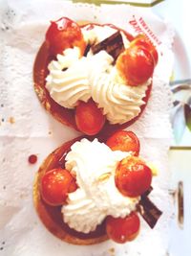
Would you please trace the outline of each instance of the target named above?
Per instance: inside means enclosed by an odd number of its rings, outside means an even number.
[[[155,65],[158,63],[158,51],[153,43],[145,35],[137,35],[133,41],[130,43],[130,47],[137,45],[145,48],[153,56],[155,60]]]

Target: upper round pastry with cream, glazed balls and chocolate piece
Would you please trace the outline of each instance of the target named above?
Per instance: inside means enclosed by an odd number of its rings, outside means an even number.
[[[34,89],[64,125],[87,135],[134,123],[148,102],[158,52],[111,24],[52,22],[34,62]]]

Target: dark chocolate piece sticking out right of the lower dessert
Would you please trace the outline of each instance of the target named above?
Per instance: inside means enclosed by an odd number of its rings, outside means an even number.
[[[154,228],[162,214],[158,207],[147,196],[141,196],[138,202],[138,212],[151,228]]]

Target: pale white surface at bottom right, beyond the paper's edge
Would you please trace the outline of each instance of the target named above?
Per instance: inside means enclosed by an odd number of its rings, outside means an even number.
[[[171,185],[176,191],[179,181],[183,182],[184,221],[182,227],[178,223],[178,198],[175,195],[175,219],[172,221],[170,233],[170,256],[190,256],[190,209],[191,209],[191,151],[172,150],[169,153],[172,172]]]

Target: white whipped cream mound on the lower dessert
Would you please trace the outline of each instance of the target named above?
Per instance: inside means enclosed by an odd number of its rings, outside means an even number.
[[[79,188],[62,206],[63,219],[71,228],[89,233],[108,215],[124,218],[135,210],[139,198],[124,197],[115,184],[117,164],[128,155],[97,139],[74,143],[66,156],[66,169],[76,175]]]

